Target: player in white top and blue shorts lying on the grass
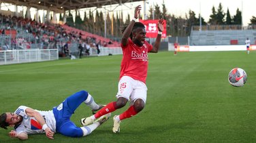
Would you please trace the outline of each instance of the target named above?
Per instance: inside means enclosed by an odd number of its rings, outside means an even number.
[[[87,91],[78,91],[76,94],[66,98],[59,106],[49,111],[34,110],[27,106],[19,106],[14,113],[3,113],[0,115],[0,127],[14,127],[9,136],[27,140],[29,134],[46,134],[53,139],[54,133],[69,137],[82,137],[91,134],[99,125],[110,117],[110,114],[95,121],[91,125],[77,127],[70,117],[80,104],[84,102],[93,111],[103,106],[96,104],[93,97]]]

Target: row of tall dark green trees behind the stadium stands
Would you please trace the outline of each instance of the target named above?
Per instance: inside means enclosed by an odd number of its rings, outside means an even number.
[[[167,7],[165,3],[162,3],[162,8],[160,6],[154,5],[149,8],[148,19],[159,19],[163,18],[166,20],[167,25],[167,35],[171,35],[172,37],[185,37],[190,35],[192,26],[199,26],[200,24],[200,16],[195,16],[195,12],[189,10],[188,14],[185,14],[185,18],[181,16],[174,16],[174,14],[169,14],[167,12]],[[154,15],[153,15],[154,14]],[[108,12],[106,14],[106,34],[107,37],[121,37],[121,27],[125,26],[125,24],[129,24],[131,18],[128,14],[126,19],[123,19],[123,12],[118,14],[116,12],[115,16],[113,16],[113,12]],[[142,17],[142,16],[141,16]],[[63,17],[60,14],[60,20],[63,20]],[[96,10],[96,14],[93,12],[89,12],[86,14],[84,12],[84,20],[80,17],[80,12],[76,12],[75,21],[71,15],[71,12],[67,15],[66,24],[69,26],[74,26],[76,28],[80,28],[81,30],[86,30],[90,33],[104,36],[104,18],[103,12],[99,12]],[[242,12],[240,9],[236,10],[236,14],[231,16],[229,13],[229,9],[227,8],[227,12],[224,12],[223,5],[219,3],[219,7],[217,9],[212,6],[212,14],[210,14],[210,18],[208,22],[201,17],[202,26],[205,25],[241,25],[242,24]],[[252,16],[251,23],[256,24],[256,17]]]

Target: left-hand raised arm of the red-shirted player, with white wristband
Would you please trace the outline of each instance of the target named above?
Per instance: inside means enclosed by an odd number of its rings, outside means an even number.
[[[142,7],[140,5],[138,5],[137,7],[135,7],[135,12],[134,12],[134,18],[139,18],[140,16],[140,10],[142,9]],[[121,43],[125,46],[128,43],[128,38],[131,34],[131,31],[133,29],[133,25],[135,23],[135,20],[131,20],[131,22],[129,23],[129,25],[127,26],[127,28],[125,28],[125,31],[123,32],[123,37],[121,40]]]

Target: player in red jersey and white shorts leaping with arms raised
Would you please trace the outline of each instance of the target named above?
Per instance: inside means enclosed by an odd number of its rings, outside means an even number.
[[[95,115],[81,119],[82,125],[89,125],[95,119],[112,113],[118,108],[122,108],[130,100],[129,108],[121,115],[114,116],[114,126],[112,131],[120,131],[121,120],[138,114],[146,104],[146,77],[148,71],[148,52],[157,53],[161,43],[163,31],[163,19],[159,20],[158,35],[154,45],[150,45],[146,40],[146,30],[144,24],[135,22],[140,16],[142,7],[135,7],[133,20],[123,29],[121,47],[123,49],[123,60],[121,62],[120,80],[118,83],[117,101],[110,102],[101,108]]]

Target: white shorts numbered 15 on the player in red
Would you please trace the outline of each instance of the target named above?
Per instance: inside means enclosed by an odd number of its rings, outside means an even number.
[[[146,104],[146,91],[148,88],[142,81],[135,80],[128,76],[123,76],[118,83],[118,93],[116,98],[126,98],[131,100],[131,104],[138,98],[142,99]]]

